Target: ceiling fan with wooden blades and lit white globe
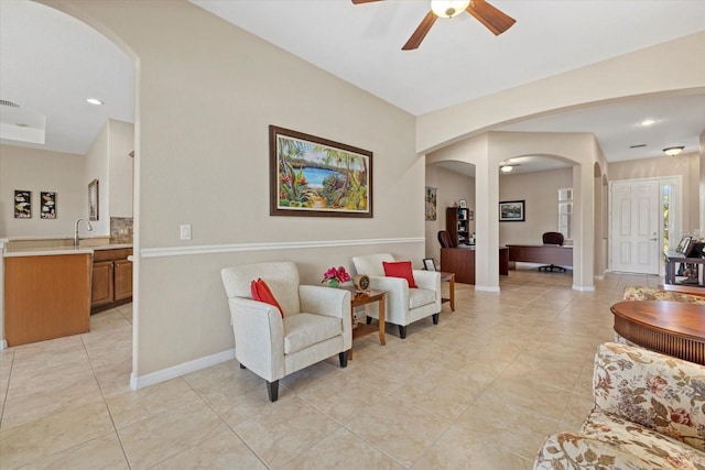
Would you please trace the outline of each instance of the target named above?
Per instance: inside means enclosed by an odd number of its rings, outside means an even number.
[[[352,3],[371,3],[376,1],[382,0],[352,0]],[[416,31],[402,47],[402,51],[417,48],[438,18],[453,18],[463,13],[463,11],[467,11],[475,17],[496,36],[509,30],[517,22],[517,20],[499,11],[485,0],[431,0],[431,11],[426,13]]]

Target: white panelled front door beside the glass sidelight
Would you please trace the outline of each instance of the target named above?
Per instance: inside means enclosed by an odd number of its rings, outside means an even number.
[[[659,274],[659,181],[611,183],[610,201],[611,270]]]

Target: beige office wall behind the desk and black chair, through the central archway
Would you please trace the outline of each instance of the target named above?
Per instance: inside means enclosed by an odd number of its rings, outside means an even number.
[[[558,188],[573,187],[573,170],[562,168],[499,177],[499,200],[525,200],[524,222],[500,222],[499,244],[542,243],[543,232],[558,229]]]

